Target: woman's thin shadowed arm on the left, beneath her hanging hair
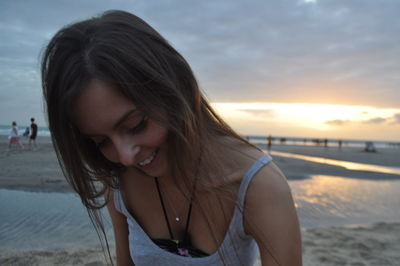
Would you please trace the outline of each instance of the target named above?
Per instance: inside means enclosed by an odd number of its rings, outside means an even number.
[[[115,209],[114,195],[110,190],[107,209],[114,228],[117,265],[134,265],[129,252],[128,223],[126,217]]]

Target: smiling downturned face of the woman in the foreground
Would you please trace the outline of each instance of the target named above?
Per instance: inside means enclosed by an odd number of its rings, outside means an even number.
[[[149,176],[168,174],[167,129],[118,90],[94,79],[73,111],[80,132],[111,162],[135,167]]]

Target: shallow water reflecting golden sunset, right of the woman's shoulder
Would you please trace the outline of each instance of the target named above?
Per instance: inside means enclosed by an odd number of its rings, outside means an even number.
[[[400,181],[317,175],[289,184],[306,227],[400,219]]]

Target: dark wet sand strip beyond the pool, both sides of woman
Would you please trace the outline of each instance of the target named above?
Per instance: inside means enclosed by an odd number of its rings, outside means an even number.
[[[29,192],[74,192],[65,180],[50,137],[39,137],[38,150],[31,151],[27,147],[28,140],[23,138],[24,150],[15,149],[6,152],[8,140],[0,136],[0,188]],[[258,145],[264,149],[266,145]],[[323,157],[328,159],[352,161],[398,167],[400,165],[400,149],[385,148],[377,153],[362,152],[360,148],[297,145],[273,145],[272,151],[289,152],[301,155]],[[341,166],[327,165],[301,159],[273,156],[274,162],[287,179],[301,180],[312,176],[326,175],[369,180],[400,179],[400,175],[384,174],[369,171],[348,170]]]

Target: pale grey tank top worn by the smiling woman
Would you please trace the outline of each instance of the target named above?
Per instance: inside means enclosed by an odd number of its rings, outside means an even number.
[[[129,250],[130,255],[137,266],[177,266],[177,265],[207,265],[207,266],[249,266],[253,265],[258,256],[258,247],[252,236],[244,231],[243,210],[247,188],[253,176],[267,163],[271,157],[263,155],[255,162],[240,184],[237,205],[235,207],[232,220],[225,238],[215,253],[206,257],[183,257],[168,252],[157,246],[142,227],[136,222],[135,218],[128,212],[123,202],[119,190],[114,191],[114,202],[116,209],[121,212],[128,222],[129,229]],[[222,259],[223,258],[223,259]]]

